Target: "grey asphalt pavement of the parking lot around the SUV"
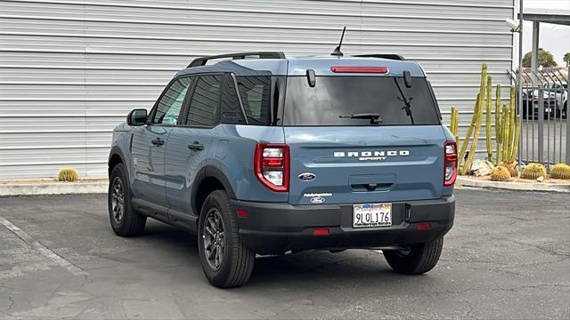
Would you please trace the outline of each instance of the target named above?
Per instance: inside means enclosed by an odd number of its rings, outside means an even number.
[[[109,226],[106,196],[0,198],[0,318],[570,318],[567,194],[460,189],[434,270],[379,252],[257,258],[248,284],[208,284],[195,236]]]

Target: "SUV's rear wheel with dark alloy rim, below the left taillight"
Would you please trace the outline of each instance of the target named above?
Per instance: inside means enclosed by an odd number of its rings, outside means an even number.
[[[233,212],[225,191],[216,190],[206,198],[199,214],[199,261],[210,284],[218,288],[248,282],[256,260],[256,254],[240,240]]]

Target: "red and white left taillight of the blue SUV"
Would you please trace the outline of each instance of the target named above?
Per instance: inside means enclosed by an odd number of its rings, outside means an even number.
[[[265,187],[277,192],[289,191],[289,146],[257,143],[254,169]]]

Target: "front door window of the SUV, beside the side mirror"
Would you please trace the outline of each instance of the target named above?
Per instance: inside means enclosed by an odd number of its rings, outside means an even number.
[[[157,111],[152,117],[153,124],[176,124],[190,84],[191,78],[184,77],[170,85],[159,100]]]

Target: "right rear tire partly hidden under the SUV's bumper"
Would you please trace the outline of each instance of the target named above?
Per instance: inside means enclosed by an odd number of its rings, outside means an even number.
[[[444,237],[438,237],[428,244],[411,246],[408,252],[386,250],[384,257],[395,272],[404,275],[419,275],[436,267],[444,248]]]

